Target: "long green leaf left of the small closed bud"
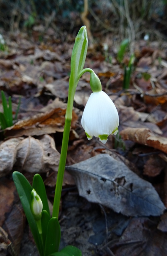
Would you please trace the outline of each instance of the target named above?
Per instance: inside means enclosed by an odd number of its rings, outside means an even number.
[[[32,215],[32,212],[30,210],[30,195],[32,191],[32,187],[28,180],[24,177],[24,175],[21,172],[14,171],[13,172],[13,181],[16,186],[17,192],[19,194],[25,215],[27,217],[29,226],[31,228],[32,235],[34,237],[35,243],[37,245],[38,251],[41,256],[43,256],[43,245],[41,237],[38,233],[36,221]]]

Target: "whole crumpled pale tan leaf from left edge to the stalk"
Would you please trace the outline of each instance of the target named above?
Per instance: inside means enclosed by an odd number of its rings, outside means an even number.
[[[0,177],[15,170],[28,172],[57,171],[59,152],[49,135],[35,139],[9,139],[0,144]]]

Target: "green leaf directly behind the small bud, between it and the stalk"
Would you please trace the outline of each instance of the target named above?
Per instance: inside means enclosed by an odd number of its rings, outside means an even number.
[[[42,180],[42,177],[38,173],[34,175],[32,188],[35,189],[36,193],[40,196],[40,198],[42,200],[42,204],[43,204],[43,210],[46,210],[49,214],[49,217],[51,218],[48,201],[47,201],[45,185]]]

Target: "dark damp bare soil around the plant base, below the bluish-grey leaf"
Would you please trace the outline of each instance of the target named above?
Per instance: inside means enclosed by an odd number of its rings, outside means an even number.
[[[74,245],[81,250],[82,256],[105,255],[106,244],[122,234],[128,221],[128,217],[89,203],[76,192],[68,193],[62,200],[59,249]],[[20,256],[38,255],[27,224]]]

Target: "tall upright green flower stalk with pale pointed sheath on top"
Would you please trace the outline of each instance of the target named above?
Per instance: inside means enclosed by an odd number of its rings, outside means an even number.
[[[63,132],[60,162],[58,167],[56,189],[55,189],[55,196],[54,196],[54,203],[53,203],[53,213],[52,213],[52,217],[57,217],[57,218],[59,213],[61,190],[62,190],[62,183],[63,183],[63,177],[64,177],[67,149],[68,149],[69,132],[70,132],[70,125],[72,120],[74,94],[75,94],[76,86],[79,81],[79,73],[81,72],[85,64],[87,49],[88,49],[87,30],[86,30],[86,27],[83,26],[80,28],[78,35],[75,38],[75,44],[74,44],[74,47],[72,50],[72,56],[71,56],[71,74],[69,78],[68,101],[67,101],[67,109],[65,114],[64,132]]]

